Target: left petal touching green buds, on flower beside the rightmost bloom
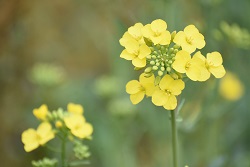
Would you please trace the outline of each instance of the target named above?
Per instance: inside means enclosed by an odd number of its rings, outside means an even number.
[[[175,56],[175,61],[172,64],[173,69],[179,73],[186,72],[186,64],[191,60],[191,56],[188,52],[181,50],[177,52]]]

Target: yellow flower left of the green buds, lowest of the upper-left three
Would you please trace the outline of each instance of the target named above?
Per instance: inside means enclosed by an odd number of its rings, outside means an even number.
[[[126,44],[126,49],[122,51],[120,57],[126,60],[132,60],[132,64],[135,67],[145,67],[146,56],[150,53],[151,50],[146,44],[139,45],[139,43],[133,39]]]

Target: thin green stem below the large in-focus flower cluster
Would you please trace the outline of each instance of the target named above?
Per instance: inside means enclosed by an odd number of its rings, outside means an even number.
[[[175,117],[175,110],[171,110],[173,164],[174,167],[178,167],[177,127]]]

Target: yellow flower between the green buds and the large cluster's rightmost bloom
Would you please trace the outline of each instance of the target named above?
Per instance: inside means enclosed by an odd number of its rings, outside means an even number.
[[[184,50],[177,52],[175,61],[172,64],[173,69],[186,75],[193,81],[203,81],[209,75],[205,63],[199,58],[200,52],[195,53],[193,58]]]

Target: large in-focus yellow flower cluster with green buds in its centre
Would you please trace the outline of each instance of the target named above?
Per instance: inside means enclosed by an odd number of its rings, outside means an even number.
[[[133,104],[147,96],[152,97],[156,106],[173,110],[177,106],[176,96],[185,87],[184,78],[206,81],[211,74],[221,78],[226,73],[219,52],[207,53],[205,57],[196,51],[206,43],[194,25],[170,33],[167,23],[161,19],[146,25],[136,23],[119,42],[125,47],[120,57],[131,60],[136,70],[144,69],[139,80],[126,85]]]

